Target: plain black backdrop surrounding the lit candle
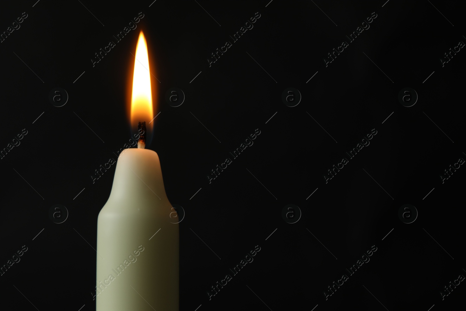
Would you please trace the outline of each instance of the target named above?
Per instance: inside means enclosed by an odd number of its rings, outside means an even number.
[[[0,265],[28,248],[0,276],[2,309],[95,309],[92,248],[115,166],[94,184],[90,175],[130,138],[126,85],[141,29],[160,80],[152,80],[160,114],[148,148],[158,152],[170,202],[185,210],[180,310],[434,311],[464,303],[464,282],[443,301],[440,291],[466,275],[466,169],[443,184],[439,177],[466,159],[466,52],[444,67],[439,61],[466,41],[464,7],[268,1],[1,4],[0,32],[22,12],[27,18],[0,43],[0,148],[22,129],[27,135],[0,160]],[[93,67],[94,54],[139,12],[137,28]],[[254,28],[209,67],[211,53],[256,12]],[[372,12],[370,28],[326,67],[327,53]],[[68,92],[62,107],[48,100],[55,87]],[[164,99],[171,87],[186,97],[176,108]],[[295,107],[281,101],[288,87],[302,95]],[[397,99],[405,87],[418,94],[414,106]],[[323,174],[374,128],[370,145],[326,184]],[[210,170],[255,129],[254,145],[209,184]],[[397,215],[407,203],[418,210],[411,224]],[[61,224],[48,217],[54,204],[69,211]],[[294,224],[281,217],[287,204],[302,212]],[[209,300],[210,286],[256,245],[254,261]],[[370,262],[326,300],[323,291],[372,245]]]

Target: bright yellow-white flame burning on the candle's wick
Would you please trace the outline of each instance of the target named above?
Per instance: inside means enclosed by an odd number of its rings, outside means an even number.
[[[130,122],[133,128],[137,126],[138,121],[145,121],[146,124],[149,124],[154,116],[149,54],[147,52],[147,42],[142,31],[139,33],[137,40],[135,58],[130,111]],[[148,126],[148,130],[151,127]]]

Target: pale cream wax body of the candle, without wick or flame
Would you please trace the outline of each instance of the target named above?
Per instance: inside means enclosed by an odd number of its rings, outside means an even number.
[[[97,220],[96,311],[178,311],[174,215],[157,153],[123,150]]]

